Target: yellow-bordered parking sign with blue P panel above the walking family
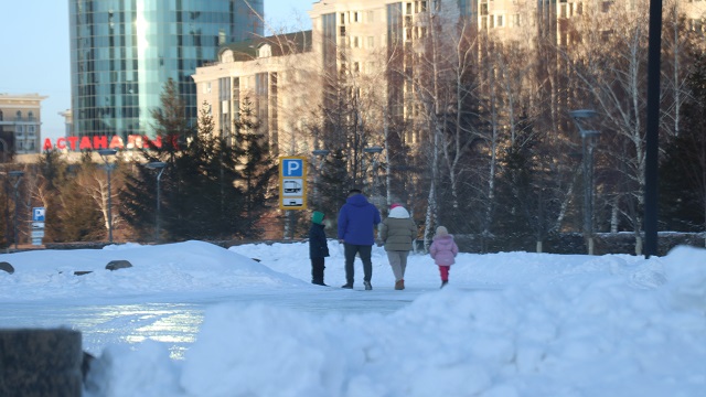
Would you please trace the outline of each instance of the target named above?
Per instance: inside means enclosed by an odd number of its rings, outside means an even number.
[[[303,157],[279,158],[279,208],[307,210],[307,162]]]

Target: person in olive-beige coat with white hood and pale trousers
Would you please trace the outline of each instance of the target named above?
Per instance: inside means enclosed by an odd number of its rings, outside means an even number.
[[[417,225],[400,204],[389,207],[389,215],[379,224],[379,239],[385,245],[389,266],[395,275],[395,289],[405,289],[405,269],[411,244],[417,238]]]

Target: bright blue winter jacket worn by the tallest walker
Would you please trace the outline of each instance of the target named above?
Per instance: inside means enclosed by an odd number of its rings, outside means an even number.
[[[362,194],[350,196],[339,212],[339,239],[353,245],[375,244],[373,230],[381,222],[379,211]]]

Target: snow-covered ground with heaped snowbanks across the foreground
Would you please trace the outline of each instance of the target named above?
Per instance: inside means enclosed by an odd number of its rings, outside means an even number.
[[[424,253],[394,289],[345,290],[329,240],[204,242],[0,255],[3,328],[69,328],[96,358],[86,397],[700,396],[706,249],[664,257],[466,254],[440,289]],[[110,260],[130,268],[106,270]],[[86,272],[78,276],[75,272]]]

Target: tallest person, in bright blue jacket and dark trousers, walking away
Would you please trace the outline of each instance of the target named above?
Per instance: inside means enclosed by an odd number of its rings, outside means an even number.
[[[355,254],[359,254],[363,260],[363,285],[366,290],[373,289],[371,254],[375,244],[374,229],[379,222],[377,207],[365,198],[363,192],[352,189],[339,212],[339,242],[343,243],[345,255],[345,285],[341,288],[353,288],[353,262]]]

